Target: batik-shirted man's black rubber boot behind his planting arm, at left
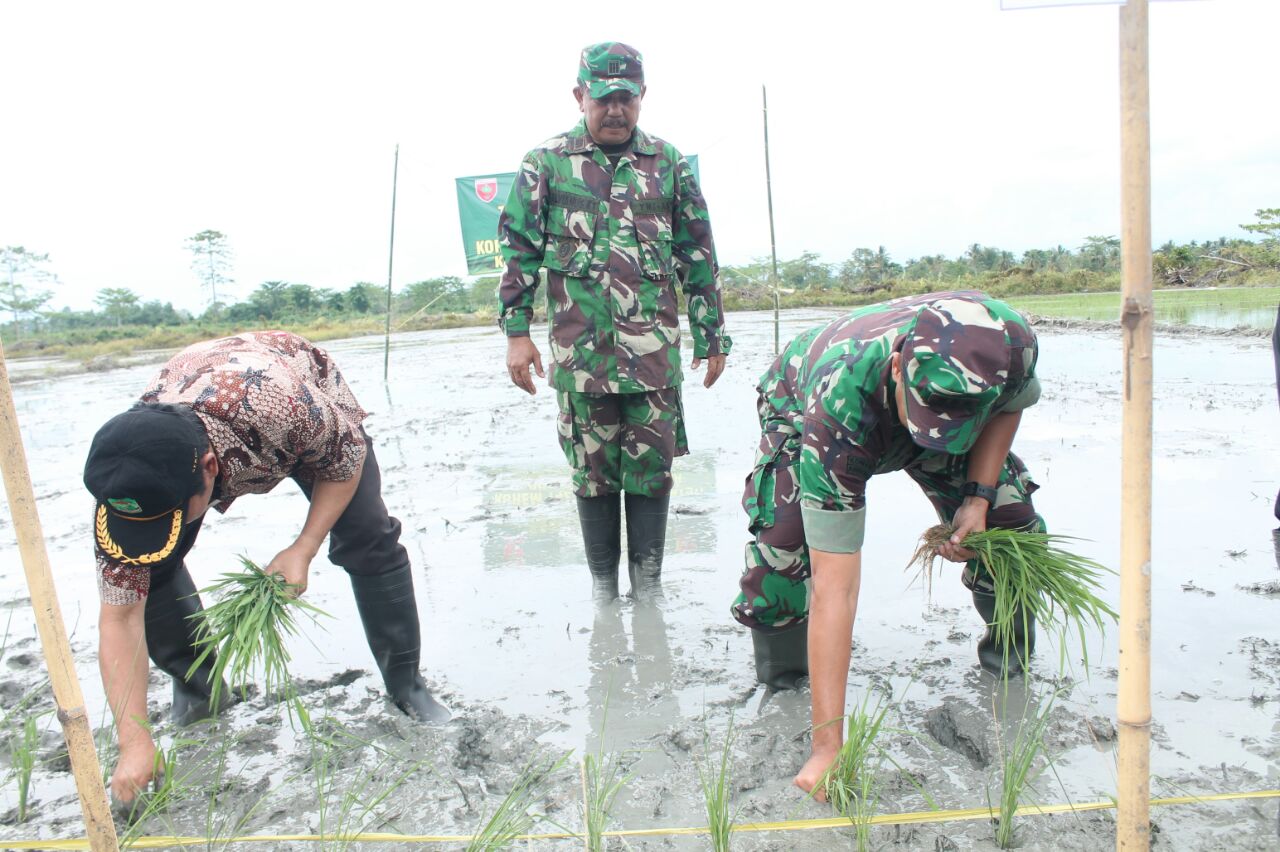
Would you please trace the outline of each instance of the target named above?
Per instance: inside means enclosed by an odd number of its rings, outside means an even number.
[[[212,654],[187,679],[187,672],[198,656],[196,624],[191,617],[201,609],[204,606],[196,595],[196,583],[186,565],[179,565],[169,582],[151,587],[143,609],[147,654],[156,668],[173,678],[173,707],[169,718],[179,725],[211,719],[232,702],[224,681],[220,706],[211,707],[209,704],[215,663]]]

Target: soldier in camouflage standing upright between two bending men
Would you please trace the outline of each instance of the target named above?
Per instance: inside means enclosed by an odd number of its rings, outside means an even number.
[[[529,325],[547,270],[557,429],[596,603],[618,596],[622,494],[631,592],[662,594],[671,462],[689,452],[677,284],[704,386],[730,351],[707,202],[680,151],[636,128],[644,93],[634,47],[586,47],[573,88],[582,120],[525,156],[498,224],[507,370],[530,394],[530,368],[544,375]]]

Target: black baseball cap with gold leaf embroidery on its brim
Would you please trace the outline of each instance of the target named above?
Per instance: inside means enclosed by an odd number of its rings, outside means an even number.
[[[173,554],[187,501],[204,489],[207,446],[204,425],[183,406],[137,403],[97,430],[84,487],[97,500],[93,535],[102,553],[143,567]]]

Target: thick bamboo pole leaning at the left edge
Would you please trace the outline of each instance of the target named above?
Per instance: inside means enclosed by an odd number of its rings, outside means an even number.
[[[40,645],[45,652],[45,667],[49,669],[54,701],[58,704],[58,722],[63,725],[67,752],[72,760],[76,792],[79,794],[81,812],[84,816],[84,833],[93,852],[118,849],[115,823],[111,821],[111,809],[106,801],[106,789],[102,787],[102,769],[93,748],[93,729],[88,723],[88,713],[84,711],[84,696],[81,693],[79,678],[76,677],[63,611],[58,608],[58,591],[49,568],[49,553],[45,550],[40,514],[36,512],[36,495],[31,487],[27,453],[22,445],[22,431],[18,429],[18,412],[13,404],[13,389],[9,386],[3,343],[0,343],[0,468],[4,472],[4,487],[9,496],[9,513],[13,516],[22,567],[27,573],[27,590],[31,592],[31,609],[36,617]]]

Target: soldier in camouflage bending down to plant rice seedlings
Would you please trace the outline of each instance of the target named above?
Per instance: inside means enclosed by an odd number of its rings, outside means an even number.
[[[1036,357],[1036,335],[1004,302],[932,293],[812,329],[760,379],[760,446],[742,498],[755,539],[732,614],[753,628],[762,682],[810,674],[813,755],[796,775],[806,792],[841,743],[867,480],[905,469],[955,526],[938,549],[954,562],[973,559],[960,548],[969,532],[1043,530],[1037,486],[1010,452],[1021,411],[1039,398]],[[968,562],[961,582],[989,624],[989,577]],[[1007,658],[989,627],[979,640],[984,668],[1000,672],[1007,659],[1021,672],[1034,622],[1014,624]]]

